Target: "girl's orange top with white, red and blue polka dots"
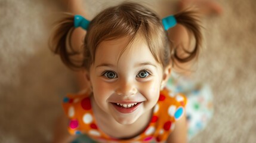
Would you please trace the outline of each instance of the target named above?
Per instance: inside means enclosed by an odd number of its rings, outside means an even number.
[[[100,142],[134,142],[134,141],[166,141],[175,128],[175,121],[184,116],[187,99],[184,95],[172,94],[164,89],[160,92],[159,100],[153,108],[152,119],[140,135],[131,139],[115,139],[102,132],[95,123],[90,97],[84,95],[67,95],[63,100],[63,108],[69,117],[68,130],[72,135],[86,134]]]

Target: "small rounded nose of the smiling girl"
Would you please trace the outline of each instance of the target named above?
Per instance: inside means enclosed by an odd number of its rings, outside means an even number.
[[[118,88],[115,92],[118,95],[135,95],[137,93],[137,88],[133,82],[124,81],[118,83]]]

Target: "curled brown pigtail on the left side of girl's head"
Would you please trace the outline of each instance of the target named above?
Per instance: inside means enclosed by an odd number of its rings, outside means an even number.
[[[51,51],[60,55],[61,61],[73,70],[82,67],[82,51],[73,49],[71,45],[71,35],[74,30],[74,15],[67,14],[66,17],[55,23],[49,39]]]

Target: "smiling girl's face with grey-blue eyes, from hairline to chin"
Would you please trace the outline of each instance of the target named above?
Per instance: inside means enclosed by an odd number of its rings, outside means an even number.
[[[152,110],[169,74],[143,40],[135,40],[119,57],[127,43],[128,38],[101,42],[90,67],[97,107],[123,125]]]

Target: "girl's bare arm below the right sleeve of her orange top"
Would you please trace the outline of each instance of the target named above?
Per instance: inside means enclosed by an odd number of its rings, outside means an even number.
[[[186,114],[183,114],[183,116],[175,122],[175,128],[167,139],[168,143],[187,142],[187,121],[185,115]]]

